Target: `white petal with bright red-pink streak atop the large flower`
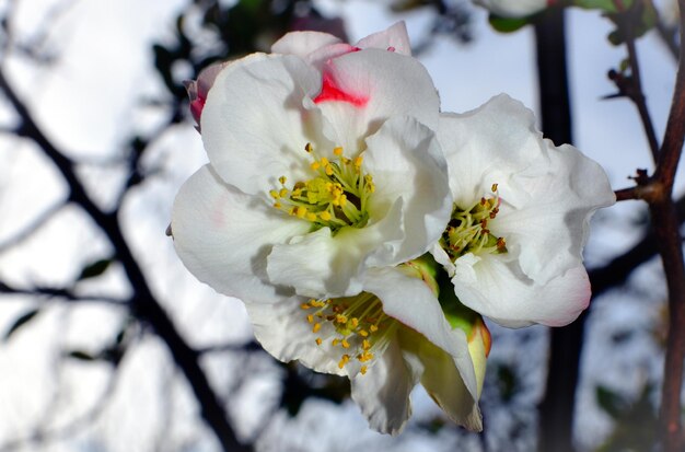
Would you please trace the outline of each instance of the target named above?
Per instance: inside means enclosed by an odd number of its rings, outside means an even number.
[[[352,51],[328,61],[324,73],[345,93],[344,100],[330,96],[316,104],[324,134],[348,154],[363,150],[363,139],[391,116],[411,116],[431,129],[438,126],[438,93],[414,58],[376,49]]]

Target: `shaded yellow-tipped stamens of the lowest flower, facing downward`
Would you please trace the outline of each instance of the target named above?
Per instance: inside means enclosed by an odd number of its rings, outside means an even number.
[[[390,344],[398,322],[383,312],[383,304],[372,293],[361,292],[356,297],[328,300],[310,300],[300,305],[309,311],[306,321],[312,325],[312,333],[323,332],[330,339],[333,347],[342,352],[338,368],[342,369],[350,361],[361,363],[359,371],[367,373],[369,362],[383,354]],[[316,345],[324,339],[318,336]]]

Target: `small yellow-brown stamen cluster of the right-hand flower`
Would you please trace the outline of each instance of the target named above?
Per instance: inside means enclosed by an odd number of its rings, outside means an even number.
[[[497,184],[492,184],[491,189],[491,196],[480,198],[466,209],[454,205],[448,229],[440,239],[442,248],[452,260],[466,253],[507,253],[504,239],[494,235],[488,229],[488,222],[497,218],[500,205]]]

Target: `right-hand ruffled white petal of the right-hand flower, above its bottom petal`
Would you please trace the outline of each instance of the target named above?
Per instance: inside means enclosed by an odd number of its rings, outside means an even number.
[[[606,173],[578,149],[554,148],[544,141],[549,163],[546,174],[519,181],[532,202],[518,209],[500,209],[491,230],[515,246],[523,271],[545,283],[582,262],[590,217],[616,198]]]

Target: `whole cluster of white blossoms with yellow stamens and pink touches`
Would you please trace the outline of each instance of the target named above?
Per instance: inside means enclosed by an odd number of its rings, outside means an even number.
[[[356,45],[290,33],[187,85],[209,157],[181,188],[186,267],[244,301],[276,358],[349,376],[372,428],[402,430],[420,383],[481,429],[490,335],[587,306],[604,172],[500,95],[440,113],[403,23]]]

